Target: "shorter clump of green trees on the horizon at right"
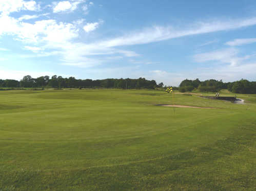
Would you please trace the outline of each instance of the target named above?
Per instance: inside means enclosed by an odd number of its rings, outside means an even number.
[[[221,89],[228,89],[234,93],[256,93],[256,82],[241,79],[235,82],[223,82],[222,80],[183,80],[179,86],[181,92],[192,91],[197,89],[199,91],[218,92]]]

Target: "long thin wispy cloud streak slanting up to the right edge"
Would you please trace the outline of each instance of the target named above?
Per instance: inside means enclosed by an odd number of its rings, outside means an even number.
[[[175,28],[173,26],[154,26],[152,28],[147,28],[142,31],[136,31],[121,37],[116,37],[110,40],[102,41],[100,44],[108,47],[147,44],[151,42],[163,41],[190,35],[199,35],[218,31],[234,30],[253,25],[256,25],[256,17],[204,22],[197,21],[194,22],[192,25],[184,26],[183,28]]]

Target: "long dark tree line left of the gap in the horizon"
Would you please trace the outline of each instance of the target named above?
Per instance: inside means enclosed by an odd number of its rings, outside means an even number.
[[[153,89],[155,87],[162,87],[163,83],[156,84],[154,80],[146,80],[145,78],[139,79],[104,79],[104,80],[81,80],[74,77],[63,78],[61,76],[42,76],[38,78],[32,78],[27,75],[20,81],[17,80],[0,80],[0,87],[53,87],[53,88],[147,88]]]

